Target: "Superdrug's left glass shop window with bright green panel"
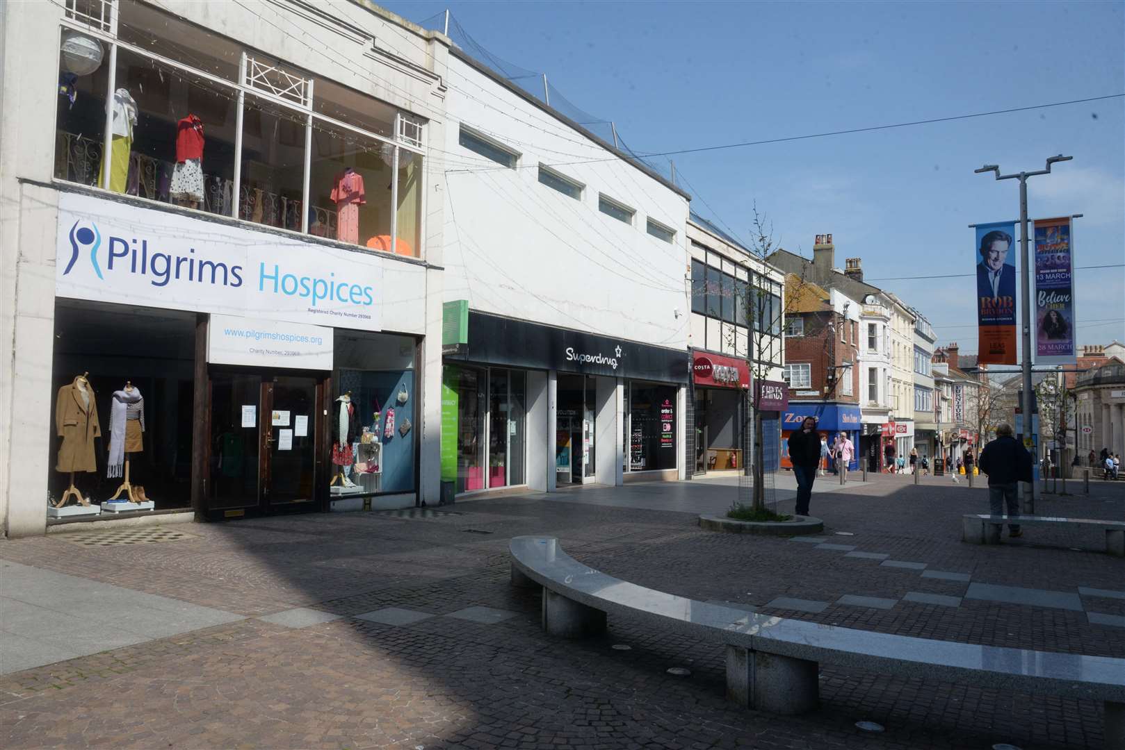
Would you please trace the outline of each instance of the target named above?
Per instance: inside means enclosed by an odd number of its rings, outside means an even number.
[[[456,481],[457,494],[524,485],[526,373],[447,364],[442,381],[442,439],[450,441],[443,448],[442,478]],[[449,430],[456,446],[444,434]],[[447,468],[450,450],[456,467]]]

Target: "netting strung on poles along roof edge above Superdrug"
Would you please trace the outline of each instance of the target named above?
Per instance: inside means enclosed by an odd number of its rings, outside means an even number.
[[[436,13],[417,21],[417,24],[418,26],[431,30],[446,31],[447,12],[448,11]],[[511,63],[503,57],[493,54],[465,30],[465,27],[457,20],[453,13],[448,13],[448,18],[449,38],[453,42],[453,44],[460,47],[461,52],[497,73],[508,82],[520,87],[523,91],[544,105],[548,105],[551,109],[556,110],[567,119],[583,126],[605,143],[616,146],[626,159],[652,170],[665,180],[676,184],[672,162],[669,162],[667,157],[642,155],[642,152],[633,151],[621,139],[620,133],[614,135],[613,124],[609,119],[597,117],[596,115],[592,115],[577,107],[574,102],[567,99],[561,91],[550,83],[549,75],[544,78],[543,71],[533,71],[521,65],[516,65],[515,63]]]

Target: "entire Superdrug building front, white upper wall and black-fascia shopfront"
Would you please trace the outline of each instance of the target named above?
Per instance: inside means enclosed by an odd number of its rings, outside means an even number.
[[[449,82],[443,494],[683,478],[688,196],[457,51]]]

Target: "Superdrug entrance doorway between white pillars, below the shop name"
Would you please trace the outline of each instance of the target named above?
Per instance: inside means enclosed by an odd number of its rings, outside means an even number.
[[[557,485],[587,485],[595,481],[596,399],[596,378],[559,376],[555,436]]]

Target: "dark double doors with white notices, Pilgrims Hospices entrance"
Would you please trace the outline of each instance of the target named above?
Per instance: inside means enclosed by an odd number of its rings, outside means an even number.
[[[207,514],[316,509],[323,399],[318,374],[213,371]]]

